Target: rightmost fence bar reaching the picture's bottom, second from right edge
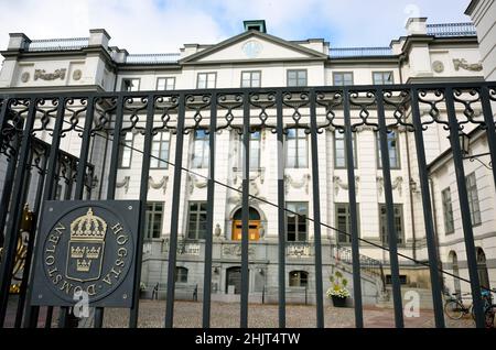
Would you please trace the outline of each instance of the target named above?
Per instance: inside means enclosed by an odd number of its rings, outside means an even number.
[[[459,189],[460,209],[462,214],[463,233],[465,239],[466,260],[468,265],[468,276],[471,280],[471,292],[474,302],[475,325],[484,328],[484,310],[481,298],[481,283],[477,273],[477,259],[475,255],[474,232],[472,230],[471,208],[468,205],[468,194],[466,190],[465,168],[463,166],[462,150],[460,146],[460,125],[456,119],[456,111],[453,98],[453,88],[445,89],[446,111],[450,123],[450,143],[453,151],[453,164],[456,174],[456,187]]]

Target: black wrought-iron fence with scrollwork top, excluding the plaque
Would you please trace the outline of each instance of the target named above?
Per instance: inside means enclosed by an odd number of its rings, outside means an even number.
[[[126,146],[127,132],[140,134],[143,146],[139,168],[139,199],[147,201],[149,189],[152,138],[160,131],[174,135],[175,154],[162,160],[174,166],[172,184],[172,204],[170,238],[168,251],[168,278],[165,327],[172,327],[174,320],[175,267],[177,262],[179,217],[182,177],[187,168],[183,150],[187,143],[185,135],[194,130],[204,129],[208,134],[208,175],[203,176],[207,187],[207,232],[205,236],[204,285],[203,285],[203,326],[211,325],[211,295],[213,271],[214,237],[214,197],[216,186],[224,186],[240,192],[242,204],[241,238],[241,284],[240,284],[240,327],[248,326],[248,266],[249,266],[249,203],[258,199],[278,209],[278,299],[279,326],[285,326],[285,260],[287,232],[284,187],[284,144],[290,129],[304,130],[310,139],[310,172],[312,216],[304,217],[313,223],[313,255],[315,269],[316,326],[324,327],[324,291],[322,278],[322,229],[338,231],[323,222],[320,198],[319,135],[326,130],[344,134],[346,173],[348,181],[348,201],[351,228],[342,234],[351,237],[351,256],[347,261],[353,266],[353,298],[356,327],[364,326],[360,288],[360,243],[376,247],[389,254],[392,282],[395,321],[403,327],[403,310],[400,292],[399,258],[413,260],[398,252],[398,232],[395,225],[391,164],[388,147],[388,134],[401,128],[414,138],[417,172],[420,181],[424,233],[429,262],[418,262],[430,270],[430,283],[434,305],[435,325],[444,326],[442,307],[441,273],[436,237],[434,234],[432,204],[430,200],[429,174],[425,160],[424,131],[428,128],[442,127],[449,133],[451,153],[455,165],[457,200],[460,201],[463,222],[464,244],[476,325],[484,326],[481,283],[477,275],[474,232],[471,223],[471,210],[465,187],[463,152],[459,143],[461,131],[473,128],[483,130],[488,140],[490,158],[496,157],[496,135],[492,103],[496,101],[496,84],[436,84],[436,85],[397,85],[363,87],[304,87],[304,88],[263,88],[263,89],[215,89],[215,90],[174,90],[174,91],[137,91],[137,92],[71,92],[71,94],[33,94],[0,96],[0,141],[7,176],[3,182],[2,206],[0,208],[0,230],[4,237],[0,271],[0,325],[3,325],[9,299],[12,269],[15,264],[15,247],[20,231],[21,214],[29,194],[34,193],[32,210],[41,212],[43,200],[50,199],[114,199],[116,197],[119,155]],[[482,113],[475,112],[481,109]],[[422,112],[421,112],[422,111]],[[386,204],[386,231],[388,245],[369,242],[358,234],[357,196],[355,187],[354,142],[353,134],[360,128],[374,130],[380,144],[380,162]],[[216,179],[215,150],[217,132],[233,130],[242,139],[242,186],[241,189]],[[277,203],[257,197],[249,192],[250,134],[260,129],[274,133],[279,146],[277,150],[278,178]],[[41,147],[36,140],[43,140],[48,146]],[[66,141],[67,140],[67,141]],[[42,155],[42,156],[39,156]],[[33,176],[40,171],[40,176]],[[493,168],[496,181],[496,169]],[[96,178],[96,179],[95,179]],[[65,183],[65,185],[63,185]],[[61,185],[65,194],[61,195]],[[276,184],[274,184],[276,185]],[[58,188],[58,193],[57,193]],[[142,206],[141,218],[145,217]],[[298,212],[292,212],[299,215]],[[143,244],[144,220],[140,222],[138,247]],[[30,247],[35,241],[36,230],[30,238]],[[136,293],[133,307],[130,309],[130,327],[137,327],[139,309],[139,289],[142,249],[137,250],[134,271]],[[30,267],[29,261],[25,269]],[[32,293],[30,284],[24,286],[28,296]],[[35,327],[39,307],[29,304],[25,298],[25,313],[22,309],[18,318],[25,327]],[[48,316],[51,317],[51,309]],[[67,325],[68,308],[60,310],[60,325]],[[104,309],[97,308],[95,326],[101,327]],[[20,325],[20,320],[17,322]]]

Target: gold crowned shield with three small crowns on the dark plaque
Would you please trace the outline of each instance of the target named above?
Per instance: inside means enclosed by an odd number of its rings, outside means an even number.
[[[106,233],[107,222],[95,216],[93,208],[71,223],[66,264],[67,278],[79,282],[100,278]]]

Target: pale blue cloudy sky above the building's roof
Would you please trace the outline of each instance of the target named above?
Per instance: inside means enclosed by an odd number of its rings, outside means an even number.
[[[105,29],[131,54],[176,53],[215,44],[263,19],[284,40],[324,39],[332,47],[389,46],[410,17],[470,22],[470,0],[0,0],[0,50],[9,33],[30,39],[84,37]]]

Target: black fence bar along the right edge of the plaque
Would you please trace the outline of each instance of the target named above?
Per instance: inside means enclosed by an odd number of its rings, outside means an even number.
[[[141,265],[143,259],[143,240],[144,240],[144,221],[147,218],[147,197],[148,197],[148,177],[150,175],[150,158],[153,139],[153,117],[154,117],[155,100],[153,95],[148,96],[147,106],[147,127],[144,131],[144,146],[143,161],[141,163],[141,184],[140,184],[140,230],[138,234],[138,242],[136,250],[136,267],[134,267],[134,293],[131,313],[129,316],[129,327],[138,327],[139,303],[140,303],[140,281],[141,281]]]

